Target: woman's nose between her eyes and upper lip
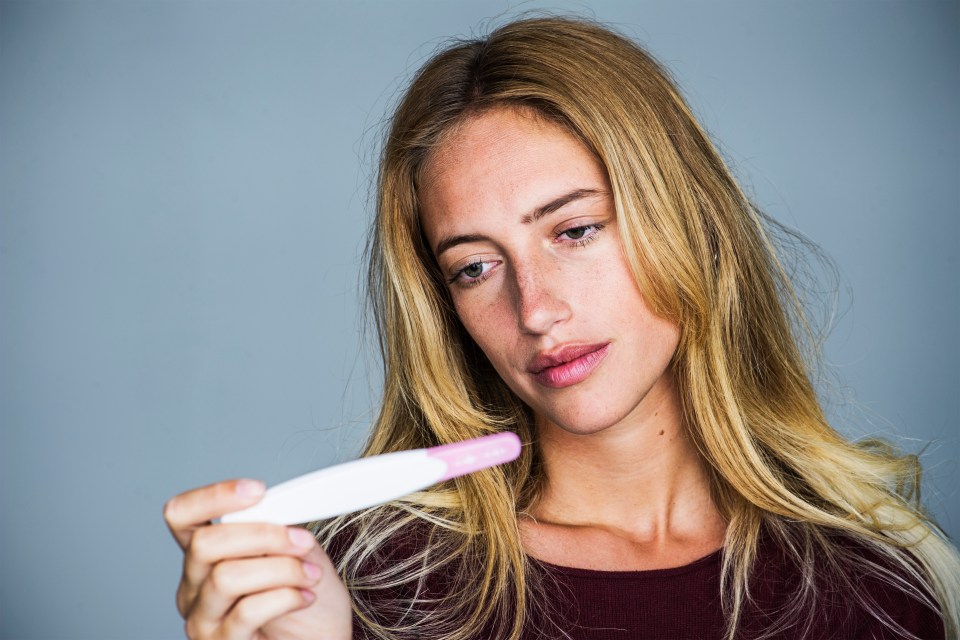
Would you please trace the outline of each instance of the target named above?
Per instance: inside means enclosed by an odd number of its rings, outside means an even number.
[[[526,262],[514,266],[517,324],[530,334],[546,334],[557,323],[570,317],[568,283],[559,270],[548,265]]]

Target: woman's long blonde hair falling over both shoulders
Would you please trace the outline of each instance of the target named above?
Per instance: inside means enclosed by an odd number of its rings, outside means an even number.
[[[518,528],[543,483],[532,416],[458,321],[418,219],[426,160],[466,118],[498,107],[547,118],[596,155],[638,286],[681,327],[673,366],[685,417],[728,522],[727,638],[749,602],[762,531],[800,567],[796,610],[810,614],[784,613],[771,635],[812,623],[817,566],[842,579],[864,562],[838,536],[879,555],[873,568],[895,588],[929,596],[948,636],[956,634],[960,560],[919,506],[918,463],[876,441],[852,443],[828,424],[804,358],[814,345],[802,305],[764,217],[648,54],[599,25],[554,17],[516,21],[441,51],[390,122],[369,272],[384,397],[364,453],[505,429],[529,446],[512,465],[318,527],[325,542],[342,544],[339,568],[366,631],[453,640],[485,625],[492,637],[516,638],[545,602],[543,576],[524,555]],[[351,539],[337,542],[346,532]],[[384,557],[397,539],[408,548]],[[452,584],[437,596],[424,585],[441,569]],[[384,589],[404,594],[389,612],[365,597]],[[855,588],[849,594],[860,597]],[[861,604],[896,626],[875,603]]]

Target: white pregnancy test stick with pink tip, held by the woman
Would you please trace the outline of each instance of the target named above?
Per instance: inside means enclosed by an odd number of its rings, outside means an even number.
[[[228,513],[220,522],[301,524],[332,518],[516,460],[519,455],[520,438],[504,432],[360,458],[270,487],[260,502]]]

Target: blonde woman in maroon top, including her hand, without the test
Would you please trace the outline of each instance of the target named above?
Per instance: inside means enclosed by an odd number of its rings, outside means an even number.
[[[957,634],[915,459],[826,422],[762,216],[633,43],[543,18],[436,55],[370,253],[365,454],[505,429],[524,453],[316,537],[210,525],[252,481],[177,496],[191,638]]]

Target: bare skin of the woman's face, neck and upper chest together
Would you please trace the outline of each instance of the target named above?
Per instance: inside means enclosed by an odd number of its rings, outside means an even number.
[[[537,417],[548,482],[523,522],[528,552],[622,570],[719,548],[724,523],[670,368],[679,328],[630,273],[597,159],[542,118],[495,109],[448,136],[420,197],[461,322]],[[538,371],[545,356],[595,348],[567,367],[586,375],[560,376],[572,384]]]

